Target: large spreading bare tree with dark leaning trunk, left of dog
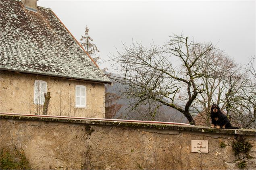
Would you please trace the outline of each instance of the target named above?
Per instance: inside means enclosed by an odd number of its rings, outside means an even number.
[[[112,78],[127,85],[126,96],[135,98],[133,108],[148,99],[155,100],[183,113],[189,123],[195,125],[191,104],[204,91],[198,81],[203,76],[198,62],[212,49],[211,43],[196,43],[182,35],[171,36],[163,47],[154,44],[144,47],[141,43],[127,47],[124,44],[123,52],[112,55],[113,66],[121,78]],[[173,66],[171,59],[179,59],[178,67]]]

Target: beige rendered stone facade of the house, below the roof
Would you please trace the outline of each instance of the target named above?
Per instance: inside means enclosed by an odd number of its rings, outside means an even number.
[[[43,105],[33,102],[35,80],[47,82],[47,92],[51,96],[48,115],[105,117],[105,88],[102,83],[4,70],[0,72],[0,112],[42,115]],[[76,85],[86,87],[84,108],[75,107]]]

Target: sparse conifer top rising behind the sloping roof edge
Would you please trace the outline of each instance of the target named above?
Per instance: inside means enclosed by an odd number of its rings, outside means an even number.
[[[97,46],[92,43],[92,41],[94,41],[90,36],[89,36],[89,28],[86,25],[85,28],[85,36],[81,36],[80,44],[83,46],[83,48],[85,49],[85,51],[87,51],[87,53],[89,53],[89,55],[91,57],[93,57],[93,60],[95,62],[97,62],[98,59],[100,59],[99,56],[96,56],[96,53],[99,53],[100,51],[98,50]]]

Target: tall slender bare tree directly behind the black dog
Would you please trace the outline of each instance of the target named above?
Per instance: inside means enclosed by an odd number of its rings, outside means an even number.
[[[198,69],[202,76],[199,81],[205,89],[194,102],[194,109],[200,113],[202,125],[210,125],[210,108],[213,103],[220,104],[225,91],[224,75],[227,75],[235,67],[233,60],[220,50],[212,50],[204,58],[200,59]]]

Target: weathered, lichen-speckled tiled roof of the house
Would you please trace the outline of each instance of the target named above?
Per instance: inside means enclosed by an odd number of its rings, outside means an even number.
[[[0,0],[0,69],[110,83],[57,16]]]

